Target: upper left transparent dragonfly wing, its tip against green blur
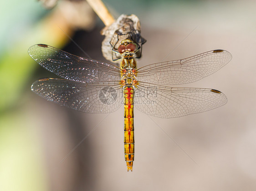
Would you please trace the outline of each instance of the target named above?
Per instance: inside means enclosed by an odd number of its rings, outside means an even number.
[[[75,56],[46,44],[33,45],[28,53],[38,64],[61,78],[83,83],[120,80],[121,69],[113,64]]]

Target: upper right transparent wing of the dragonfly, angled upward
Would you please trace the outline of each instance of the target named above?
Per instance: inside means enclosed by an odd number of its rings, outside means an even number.
[[[191,83],[215,73],[231,59],[228,51],[211,50],[186,59],[149,64],[137,70],[137,79],[157,84]]]

